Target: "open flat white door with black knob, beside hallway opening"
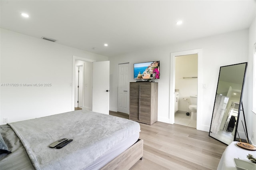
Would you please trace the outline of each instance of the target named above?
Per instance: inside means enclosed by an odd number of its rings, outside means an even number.
[[[110,61],[93,62],[92,111],[109,114],[109,68]]]

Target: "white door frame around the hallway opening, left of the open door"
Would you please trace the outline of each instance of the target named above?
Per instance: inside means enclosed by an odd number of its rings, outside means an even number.
[[[88,62],[95,62],[96,60],[94,59],[88,59],[88,58],[83,58],[83,57],[78,57],[73,55],[72,56],[72,83],[70,86],[72,86],[72,104],[71,104],[71,111],[75,110],[75,86],[76,86],[76,60],[81,60],[81,61],[88,61]]]

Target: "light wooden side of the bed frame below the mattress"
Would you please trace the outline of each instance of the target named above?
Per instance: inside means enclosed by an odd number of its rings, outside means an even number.
[[[130,148],[126,149],[122,154],[118,155],[111,162],[106,164],[102,170],[128,170],[139,159],[143,157],[143,139],[133,144]]]

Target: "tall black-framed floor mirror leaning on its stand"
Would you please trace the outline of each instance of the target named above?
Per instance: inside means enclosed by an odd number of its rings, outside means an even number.
[[[220,67],[209,136],[227,145],[236,140],[246,69],[247,62]]]

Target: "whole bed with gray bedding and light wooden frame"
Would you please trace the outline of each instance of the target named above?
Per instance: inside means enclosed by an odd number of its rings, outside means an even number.
[[[8,151],[0,168],[23,170],[129,169],[143,156],[137,122],[78,110],[8,123],[0,133]],[[73,139],[61,149],[49,145]]]

